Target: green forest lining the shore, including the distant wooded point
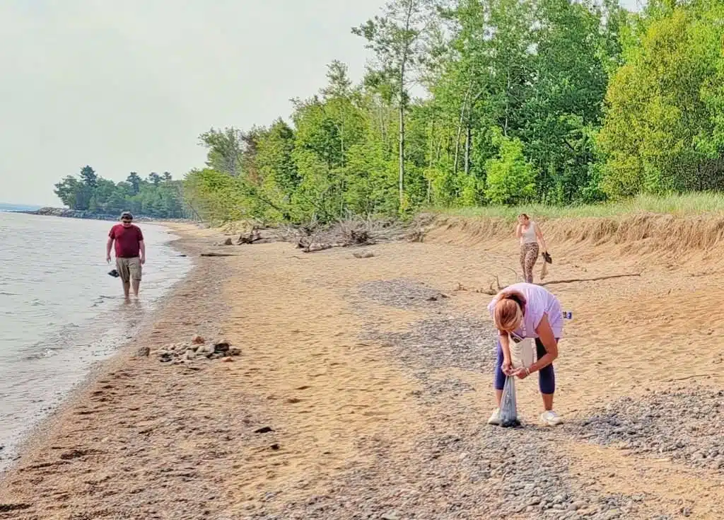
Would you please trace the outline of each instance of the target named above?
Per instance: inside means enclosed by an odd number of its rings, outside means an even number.
[[[206,164],[182,193],[216,222],[716,193],[722,20],[724,0],[638,12],[618,0],[390,0],[350,29],[370,56],[359,82],[332,61],[286,117],[202,133]],[[181,190],[156,181],[58,189],[75,205],[172,211]]]

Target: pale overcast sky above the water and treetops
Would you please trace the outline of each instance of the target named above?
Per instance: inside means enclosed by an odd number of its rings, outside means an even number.
[[[635,0],[624,0],[633,7]],[[0,0],[0,201],[59,206],[53,184],[90,164],[182,177],[198,134],[290,113],[384,0]]]

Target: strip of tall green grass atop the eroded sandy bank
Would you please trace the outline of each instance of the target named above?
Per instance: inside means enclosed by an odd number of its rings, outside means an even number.
[[[703,214],[724,215],[724,193],[684,193],[666,196],[639,195],[626,201],[581,206],[479,206],[474,208],[433,210],[439,214],[458,217],[487,217],[515,220],[521,213],[534,218],[561,219],[625,217],[635,213],[670,214],[678,217]]]

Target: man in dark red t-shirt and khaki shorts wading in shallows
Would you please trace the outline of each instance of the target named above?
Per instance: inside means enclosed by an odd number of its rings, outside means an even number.
[[[138,298],[141,266],[146,264],[146,245],[140,227],[132,224],[133,215],[130,211],[121,214],[121,223],[111,227],[106,243],[106,261],[111,261],[111,248],[116,243],[116,269],[123,282],[123,293],[129,299],[130,287],[133,284],[133,295]]]

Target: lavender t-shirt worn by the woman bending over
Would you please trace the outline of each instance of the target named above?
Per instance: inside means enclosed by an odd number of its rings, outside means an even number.
[[[550,291],[542,288],[540,285],[532,283],[508,285],[508,287],[501,292],[508,291],[523,293],[527,301],[526,314],[523,316],[523,324],[525,327],[518,327],[518,329],[515,330],[515,334],[521,337],[538,337],[536,328],[538,328],[538,325],[543,319],[543,314],[547,314],[548,323],[550,323],[550,327],[553,330],[553,335],[557,338],[562,337],[563,311],[560,308],[560,302]],[[498,293],[488,305],[491,317],[495,310],[495,303],[497,303],[499,298],[500,293]],[[523,330],[523,328],[525,330]]]

